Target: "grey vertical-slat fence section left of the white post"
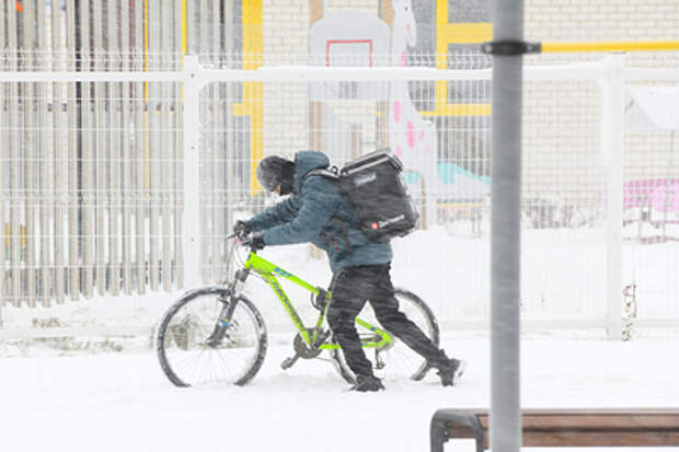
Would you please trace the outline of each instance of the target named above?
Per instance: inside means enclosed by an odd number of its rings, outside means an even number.
[[[180,4],[2,2],[0,69],[176,70]],[[173,286],[181,95],[177,83],[2,83],[4,302]]]

